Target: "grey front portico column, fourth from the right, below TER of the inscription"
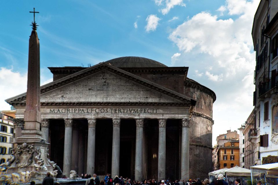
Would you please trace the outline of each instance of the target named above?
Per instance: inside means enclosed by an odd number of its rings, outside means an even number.
[[[120,123],[121,120],[113,119],[113,140],[112,140],[112,169],[111,175],[115,177],[120,172]]]

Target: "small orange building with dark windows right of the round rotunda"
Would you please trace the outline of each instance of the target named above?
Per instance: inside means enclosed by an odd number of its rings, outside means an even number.
[[[217,153],[218,169],[239,166],[239,141],[233,140],[220,147]]]

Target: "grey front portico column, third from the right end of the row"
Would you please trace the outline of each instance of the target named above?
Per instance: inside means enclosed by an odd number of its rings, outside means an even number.
[[[143,119],[136,121],[136,149],[135,149],[135,180],[142,181],[142,158],[143,158]]]

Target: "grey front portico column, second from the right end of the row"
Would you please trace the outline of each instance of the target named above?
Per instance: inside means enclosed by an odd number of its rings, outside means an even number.
[[[165,179],[166,169],[166,119],[159,119],[158,135],[158,180]]]

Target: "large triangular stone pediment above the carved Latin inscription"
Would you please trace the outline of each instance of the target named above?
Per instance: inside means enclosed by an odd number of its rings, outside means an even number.
[[[10,104],[25,103],[26,93],[7,99]],[[132,73],[100,63],[41,86],[41,103],[47,102],[160,102],[192,100]],[[194,104],[194,103],[193,103]]]

